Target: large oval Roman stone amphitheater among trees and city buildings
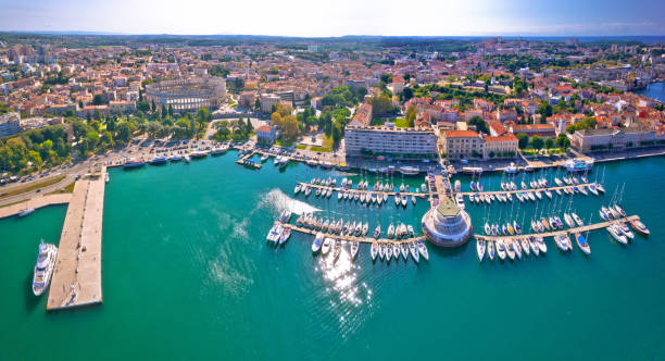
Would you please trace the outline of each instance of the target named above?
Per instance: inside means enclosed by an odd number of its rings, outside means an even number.
[[[146,99],[174,111],[215,108],[226,99],[226,79],[216,76],[163,80],[146,86]]]

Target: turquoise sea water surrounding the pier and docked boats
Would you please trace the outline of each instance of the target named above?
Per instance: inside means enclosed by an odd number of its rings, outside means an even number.
[[[293,197],[294,182],[336,172],[272,160],[260,171],[235,153],[140,170],[111,170],[103,220],[103,292],[99,307],[46,313],[29,291],[40,238],[57,242],[65,207],[0,220],[0,360],[210,359],[662,359],[665,356],[665,159],[597,165],[607,195],[575,196],[588,220],[626,184],[623,206],[651,228],[620,246],[590,234],[592,254],[478,263],[473,242],[429,246],[429,262],[329,264],[294,234],[284,248],[265,244],[284,207],[355,216],[384,232],[414,225],[425,201],[379,210]],[[552,177],[550,173],[548,177]],[[339,175],[338,179],[341,179]],[[468,177],[459,177],[468,189]],[[481,179],[498,188],[501,175]],[[520,175],[517,176],[517,180]],[[354,183],[360,180],[354,178]],[[371,179],[371,183],[374,179]],[[404,179],[412,186],[422,178]],[[402,178],[396,176],[393,183]],[[541,209],[567,207],[542,201]],[[475,228],[535,206],[467,203]],[[560,213],[561,214],[561,213]],[[416,226],[419,232],[419,226]]]

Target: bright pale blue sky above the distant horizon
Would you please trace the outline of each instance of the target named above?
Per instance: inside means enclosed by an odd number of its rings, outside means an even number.
[[[0,30],[283,36],[665,35],[665,0],[0,0]]]

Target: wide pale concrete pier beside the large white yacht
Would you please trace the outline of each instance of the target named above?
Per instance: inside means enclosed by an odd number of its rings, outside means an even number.
[[[102,301],[101,227],[104,175],[76,182],[62,227],[47,310]]]

